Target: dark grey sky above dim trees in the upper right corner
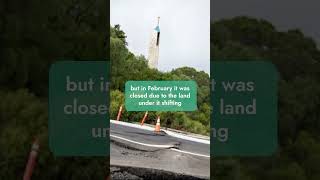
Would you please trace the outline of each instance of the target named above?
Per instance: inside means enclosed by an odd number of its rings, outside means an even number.
[[[217,20],[239,15],[263,18],[279,30],[301,29],[320,42],[319,0],[213,0],[211,18]]]

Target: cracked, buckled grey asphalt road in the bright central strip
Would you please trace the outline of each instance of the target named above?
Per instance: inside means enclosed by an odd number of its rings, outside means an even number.
[[[209,144],[113,123],[110,123],[110,136],[111,165],[209,179]]]

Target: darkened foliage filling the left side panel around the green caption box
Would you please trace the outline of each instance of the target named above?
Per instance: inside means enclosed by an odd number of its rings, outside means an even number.
[[[0,179],[22,179],[35,138],[36,179],[104,179],[108,158],[54,157],[48,147],[48,74],[58,60],[104,60],[104,0],[0,2]]]

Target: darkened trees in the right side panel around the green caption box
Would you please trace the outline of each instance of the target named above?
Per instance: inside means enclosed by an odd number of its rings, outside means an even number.
[[[266,158],[214,158],[215,179],[319,179],[320,51],[299,30],[248,17],[212,24],[212,60],[267,60],[279,71],[279,149]]]

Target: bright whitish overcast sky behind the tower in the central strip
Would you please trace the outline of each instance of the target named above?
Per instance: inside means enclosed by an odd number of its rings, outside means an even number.
[[[159,70],[189,66],[210,72],[210,0],[111,0],[111,25],[120,24],[128,47],[147,57],[160,16]]]

